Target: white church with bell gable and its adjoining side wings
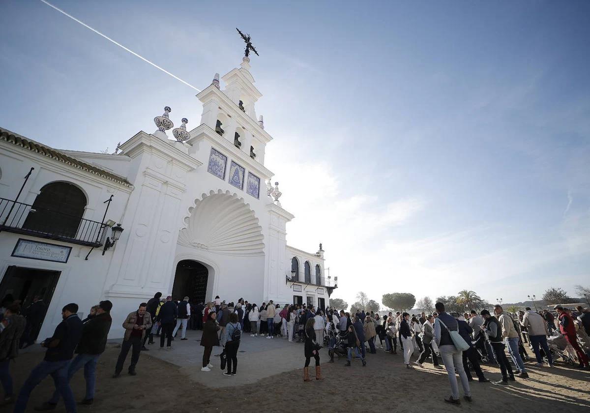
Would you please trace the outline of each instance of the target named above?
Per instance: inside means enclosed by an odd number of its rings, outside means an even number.
[[[216,74],[196,95],[198,127],[189,132],[166,107],[156,132],[114,154],[57,150],[0,128],[0,299],[27,307],[41,296],[38,337],[51,335],[65,304],[86,317],[105,299],[109,337],[122,337],[124,316],[157,291],[329,305],[336,278],[324,274],[321,244],[317,253],[287,245],[294,217],[264,166],[273,138],[255,112],[250,59],[221,80],[224,89]]]

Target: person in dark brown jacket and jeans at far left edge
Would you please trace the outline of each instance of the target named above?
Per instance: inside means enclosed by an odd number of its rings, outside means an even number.
[[[18,314],[19,310],[19,305],[12,303],[6,308],[1,322],[4,330],[0,333],[0,382],[4,388],[4,401],[0,402],[0,407],[14,402],[10,360],[18,356],[18,342],[27,324],[25,317]]]

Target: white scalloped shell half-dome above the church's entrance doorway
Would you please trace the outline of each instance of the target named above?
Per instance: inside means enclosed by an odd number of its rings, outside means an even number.
[[[218,254],[264,254],[262,227],[243,198],[211,191],[195,201],[189,214],[179,244]]]

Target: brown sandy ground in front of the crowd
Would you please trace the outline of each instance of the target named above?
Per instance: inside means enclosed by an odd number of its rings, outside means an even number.
[[[299,351],[303,366],[303,346],[290,343],[285,351]],[[196,346],[196,344],[195,344]],[[113,366],[118,349],[110,345],[101,356],[97,372],[97,392],[91,406],[79,406],[80,412],[562,412],[590,411],[590,372],[565,368],[558,363],[555,369],[529,367],[530,379],[521,379],[510,386],[489,383],[471,383],[473,404],[463,401],[461,406],[447,405],[442,398],[448,394],[446,373],[432,366],[408,371],[403,356],[390,355],[378,350],[368,355],[365,368],[359,361],[351,367],[345,360],[326,363],[322,354],[323,382],[303,382],[303,370],[295,369],[262,378],[256,383],[240,384],[238,375],[226,377],[219,369],[219,359],[212,360],[212,372],[191,372],[191,375],[209,375],[211,381],[233,381],[236,386],[211,388],[191,380],[176,365],[156,358],[156,351],[142,352],[137,365],[137,376],[129,376],[126,366],[120,378],[113,379]],[[324,350],[322,350],[324,351]],[[214,349],[214,354],[215,354]],[[11,365],[15,389],[21,386],[31,368],[42,359],[43,353],[25,352],[16,364]],[[129,355],[130,356],[130,355]],[[200,359],[200,355],[195,355]],[[238,360],[241,355],[238,355]],[[248,355],[242,355],[247,358]],[[127,359],[127,363],[129,359]],[[269,360],[271,362],[271,360]],[[195,360],[198,365],[198,360]],[[260,365],[264,369],[264,363]],[[196,369],[196,366],[195,366]],[[499,369],[484,367],[490,379],[499,379]],[[201,379],[202,381],[202,379]],[[84,396],[83,372],[72,381],[77,400]],[[27,411],[33,411],[53,392],[53,381],[45,379],[33,392]],[[0,411],[8,412],[9,408]],[[63,412],[60,402],[55,412]]]

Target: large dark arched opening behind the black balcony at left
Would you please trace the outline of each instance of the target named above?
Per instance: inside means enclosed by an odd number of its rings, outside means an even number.
[[[86,208],[86,195],[69,182],[41,188],[22,228],[58,237],[76,238]]]

